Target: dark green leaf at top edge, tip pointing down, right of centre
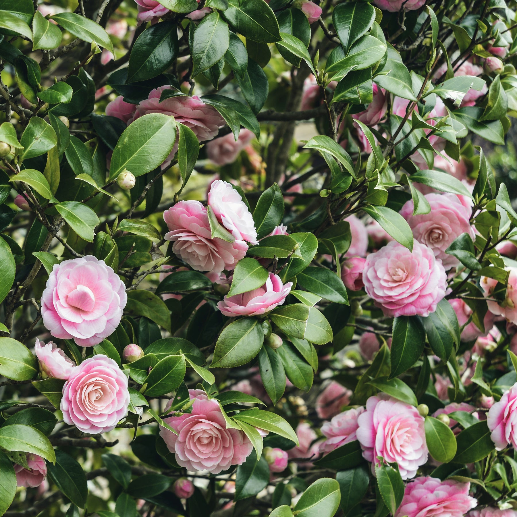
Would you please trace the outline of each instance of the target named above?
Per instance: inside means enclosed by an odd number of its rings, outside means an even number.
[[[364,2],[338,4],[332,12],[332,22],[345,52],[369,31],[374,21],[375,9]]]

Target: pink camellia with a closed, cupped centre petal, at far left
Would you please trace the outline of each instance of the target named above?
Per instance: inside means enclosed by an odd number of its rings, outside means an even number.
[[[117,328],[127,299],[124,282],[103,260],[65,260],[54,264],[41,295],[43,325],[55,338],[97,345]]]

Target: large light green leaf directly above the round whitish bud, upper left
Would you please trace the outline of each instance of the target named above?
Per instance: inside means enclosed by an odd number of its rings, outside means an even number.
[[[122,133],[113,150],[110,180],[124,169],[141,176],[156,169],[176,141],[174,117],[163,113],[148,113],[137,118]]]

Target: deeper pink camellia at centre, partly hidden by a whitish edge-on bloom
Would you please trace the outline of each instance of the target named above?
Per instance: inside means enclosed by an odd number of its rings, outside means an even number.
[[[248,250],[244,240],[212,239],[208,212],[199,201],[179,201],[163,212],[163,219],[170,230],[165,239],[174,242],[172,250],[197,271],[232,270]]]

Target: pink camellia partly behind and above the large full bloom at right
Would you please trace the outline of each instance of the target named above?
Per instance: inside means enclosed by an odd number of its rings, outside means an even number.
[[[413,200],[404,204],[400,214],[409,224],[415,239],[431,248],[446,270],[456,267],[460,261],[445,250],[462,233],[474,239],[474,229],[470,225],[472,207],[455,194],[427,194],[425,199],[431,206],[429,214],[414,216]]]

